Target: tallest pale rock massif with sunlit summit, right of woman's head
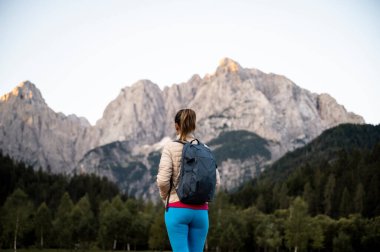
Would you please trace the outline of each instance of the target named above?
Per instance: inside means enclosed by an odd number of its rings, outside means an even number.
[[[194,98],[182,107],[197,112],[197,136],[205,141],[224,131],[248,130],[280,143],[281,150],[274,155],[279,157],[328,127],[364,123],[325,95],[301,89],[283,76],[243,69],[230,59],[198,82]]]

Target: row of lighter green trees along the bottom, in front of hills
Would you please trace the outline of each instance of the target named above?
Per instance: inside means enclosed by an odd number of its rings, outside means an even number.
[[[210,205],[207,251],[376,251],[380,245],[379,216],[311,216],[302,197],[264,213],[229,197],[221,192]],[[96,216],[87,194],[74,203],[67,192],[53,212],[16,189],[1,209],[1,247],[169,250],[163,215],[162,205],[116,195],[100,203]]]

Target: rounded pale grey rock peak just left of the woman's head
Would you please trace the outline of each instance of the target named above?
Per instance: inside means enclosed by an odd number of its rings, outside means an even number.
[[[96,123],[97,146],[128,140],[131,144],[155,143],[164,137],[165,105],[160,88],[142,80],[122,89]]]

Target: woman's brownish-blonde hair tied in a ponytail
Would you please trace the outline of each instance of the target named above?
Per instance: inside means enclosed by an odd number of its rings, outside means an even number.
[[[196,119],[197,116],[192,109],[181,109],[177,112],[174,122],[179,126],[179,140],[185,141],[186,136],[195,130]]]

